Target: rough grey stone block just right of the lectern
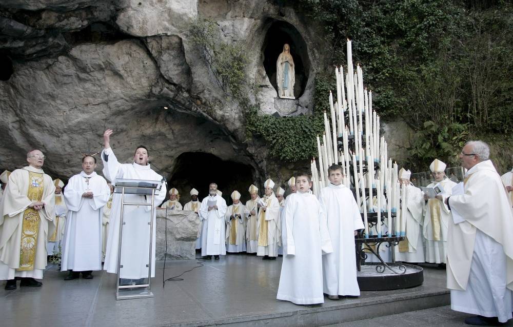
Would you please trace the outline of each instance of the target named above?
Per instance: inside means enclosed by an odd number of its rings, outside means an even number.
[[[167,220],[167,230],[166,230]],[[171,211],[157,209],[156,214],[156,250],[157,260],[194,259],[196,256],[196,238],[200,219],[193,211]],[[167,251],[166,251],[167,234]]]

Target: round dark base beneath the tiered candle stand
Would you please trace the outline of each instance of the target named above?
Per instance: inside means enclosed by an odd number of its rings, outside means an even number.
[[[360,291],[399,290],[421,285],[424,281],[421,267],[407,263],[388,263],[391,268],[396,269],[401,264],[406,267],[404,274],[396,274],[388,269],[379,273],[376,270],[379,263],[362,264],[362,270],[357,274]]]

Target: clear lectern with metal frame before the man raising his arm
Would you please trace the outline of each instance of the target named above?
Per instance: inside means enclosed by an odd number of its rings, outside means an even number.
[[[117,179],[115,182],[114,193],[121,194],[121,217],[120,217],[120,241],[119,241],[119,249],[117,250],[117,282],[116,282],[116,300],[125,300],[125,299],[136,299],[136,298],[147,298],[153,297],[153,293],[151,292],[151,263],[152,263],[152,250],[153,250],[153,224],[155,223],[155,195],[159,194],[162,188],[162,181],[160,180],[139,180],[139,179]],[[127,201],[125,195],[144,195],[145,202],[132,202]],[[151,196],[151,202],[147,201],[147,197]],[[150,233],[150,242],[148,249],[148,264],[146,267],[148,268],[148,280],[147,283],[143,284],[128,284],[121,285],[121,269],[123,268],[123,263],[121,262],[121,254],[123,249],[123,226],[126,224],[124,221],[124,212],[125,206],[151,206],[150,210],[150,220],[148,222],[149,225],[149,233]],[[137,217],[139,218],[139,217]],[[147,289],[147,292],[127,292],[127,291],[136,291],[138,289]],[[120,290],[122,293],[120,294]],[[135,293],[135,294],[134,294]]]

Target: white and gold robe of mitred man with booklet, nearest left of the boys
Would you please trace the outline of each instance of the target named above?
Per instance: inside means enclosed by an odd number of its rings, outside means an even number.
[[[266,210],[258,210],[257,233],[258,233],[258,256],[278,256],[278,246],[280,245],[281,219],[280,203],[274,193],[270,196],[265,195],[262,200],[266,205]]]

